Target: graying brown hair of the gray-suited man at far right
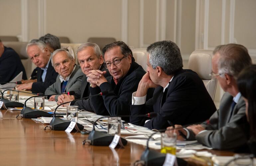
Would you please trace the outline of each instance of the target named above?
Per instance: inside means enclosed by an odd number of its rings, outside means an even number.
[[[219,53],[218,72],[220,77],[228,74],[237,79],[243,68],[252,64],[248,50],[240,44],[226,44],[217,46],[213,55]]]

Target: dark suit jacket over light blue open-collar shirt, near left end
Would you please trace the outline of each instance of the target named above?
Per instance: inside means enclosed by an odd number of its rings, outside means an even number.
[[[56,82],[56,77],[58,73],[55,71],[55,69],[52,66],[52,63],[49,63],[46,76],[45,76],[45,82],[42,80],[44,70],[41,68],[37,69],[37,82],[34,82],[32,84],[32,93],[45,93],[45,90]]]

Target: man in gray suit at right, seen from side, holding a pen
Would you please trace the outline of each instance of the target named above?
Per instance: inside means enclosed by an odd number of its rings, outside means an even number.
[[[249,126],[246,121],[245,102],[238,91],[236,79],[239,72],[252,61],[247,49],[238,44],[217,46],[213,54],[212,76],[217,78],[225,91],[219,109],[202,124],[187,128],[175,125],[177,129],[174,131],[180,140],[184,139],[178,130],[187,140],[197,140],[214,149],[241,151],[245,149],[248,140]],[[172,127],[168,127],[166,133],[171,133],[172,130]]]

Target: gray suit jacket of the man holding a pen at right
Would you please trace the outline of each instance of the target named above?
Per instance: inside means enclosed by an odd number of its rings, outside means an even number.
[[[192,130],[189,130],[189,140],[196,139],[199,143],[214,149],[231,151],[236,151],[245,145],[249,139],[245,102],[240,97],[231,115],[232,101],[233,97],[226,92],[220,101],[219,109],[213,113],[208,122],[201,124],[207,131],[195,136]]]

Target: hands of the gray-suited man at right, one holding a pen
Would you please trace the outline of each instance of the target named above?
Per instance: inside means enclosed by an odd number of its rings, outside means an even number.
[[[198,125],[190,125],[190,126],[188,126],[186,128],[187,129],[191,129],[192,132],[195,135],[197,135],[200,131],[205,130],[205,128],[202,125],[200,125],[200,124],[198,124]],[[175,129],[172,126],[167,127],[165,133],[167,135],[171,135],[172,133],[176,133],[177,139],[184,141],[185,139],[180,135],[179,131],[182,132],[185,136],[187,136],[187,134],[188,134],[187,131],[183,129],[182,125],[175,125]]]

